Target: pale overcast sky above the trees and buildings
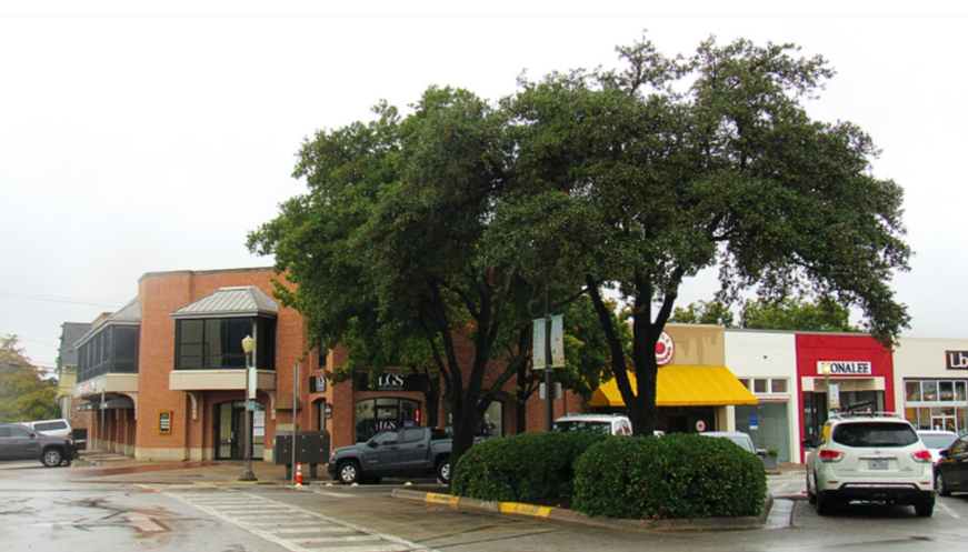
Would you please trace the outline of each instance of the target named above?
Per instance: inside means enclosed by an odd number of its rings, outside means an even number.
[[[36,364],[146,272],[271,265],[246,234],[305,190],[317,129],[431,84],[498,99],[522,70],[615,66],[646,29],[668,56],[715,34],[828,58],[810,114],[869,132],[906,191],[907,333],[968,337],[964,2],[133,3],[0,3],[0,334]],[[700,277],[680,304],[713,291]]]

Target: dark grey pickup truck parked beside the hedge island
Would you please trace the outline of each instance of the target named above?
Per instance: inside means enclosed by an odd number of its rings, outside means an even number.
[[[379,483],[382,478],[433,475],[450,483],[452,440],[439,428],[403,428],[333,449],[329,474],[340,483]]]

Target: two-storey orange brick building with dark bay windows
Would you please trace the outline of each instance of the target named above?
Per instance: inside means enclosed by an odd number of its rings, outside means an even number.
[[[100,448],[103,436],[104,448],[138,459],[241,459],[246,335],[256,340],[258,369],[255,459],[272,460],[276,432],[292,428],[293,402],[298,429],[330,431],[332,446],[352,444],[382,428],[448,424],[442,400],[438,419],[427,419],[418,375],[390,370],[376,384],[361,375],[332,385],[326,369],[342,364],[346,351],[319,358],[302,315],[272,298],[277,281],[285,283],[270,268],[141,277],[138,297],[96,320],[78,342],[73,395],[88,401],[83,409],[90,411],[91,448]],[[461,345],[459,358],[469,365],[471,344]],[[486,381],[500,369],[492,363]],[[516,409],[507,390],[488,411],[483,431],[513,432]],[[580,398],[571,394],[556,403],[556,413],[581,408]],[[542,429],[541,401],[532,398],[527,410],[528,430]]]

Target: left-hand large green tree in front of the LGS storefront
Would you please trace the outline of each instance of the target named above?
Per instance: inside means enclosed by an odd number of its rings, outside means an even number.
[[[248,243],[273,253],[298,283],[289,291],[280,282],[277,294],[308,318],[313,341],[349,349],[337,381],[391,365],[442,380],[456,465],[505,384],[518,375],[526,392],[546,274],[493,235],[498,205],[519,193],[505,111],[436,87],[413,109],[401,118],[381,103],[377,120],[307,141],[295,175],[308,193],[283,203]],[[567,279],[553,290],[559,312],[581,291]],[[597,334],[587,325],[573,327],[568,347],[581,354],[562,379],[587,394],[601,377],[601,348],[589,343]],[[486,383],[495,360],[503,364]]]

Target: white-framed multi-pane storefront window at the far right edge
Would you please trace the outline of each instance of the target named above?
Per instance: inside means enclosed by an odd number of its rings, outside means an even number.
[[[968,381],[905,380],[905,418],[919,430],[968,434]]]

